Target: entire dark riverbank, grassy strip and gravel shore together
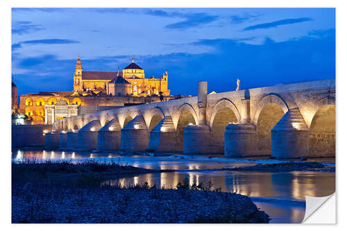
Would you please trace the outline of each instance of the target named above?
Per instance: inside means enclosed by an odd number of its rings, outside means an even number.
[[[105,184],[110,175],[164,172],[120,162],[13,162],[12,223],[268,223],[248,196],[211,185]],[[103,184],[101,184],[103,182]]]

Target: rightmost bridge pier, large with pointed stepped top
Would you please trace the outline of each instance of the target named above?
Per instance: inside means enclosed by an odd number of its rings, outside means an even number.
[[[271,155],[297,158],[308,154],[309,132],[298,108],[289,109],[271,130]]]

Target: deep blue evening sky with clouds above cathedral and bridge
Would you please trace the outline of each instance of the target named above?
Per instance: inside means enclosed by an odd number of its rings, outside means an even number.
[[[12,8],[18,94],[72,91],[78,55],[83,70],[168,71],[173,95],[335,78],[335,9]]]

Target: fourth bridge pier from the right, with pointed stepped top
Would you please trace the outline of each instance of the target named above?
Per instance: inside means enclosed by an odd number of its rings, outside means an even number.
[[[177,135],[172,117],[167,116],[150,132],[149,147],[147,151],[179,152]]]

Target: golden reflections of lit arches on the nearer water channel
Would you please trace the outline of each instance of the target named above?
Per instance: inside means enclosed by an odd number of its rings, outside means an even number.
[[[149,185],[175,189],[178,182],[189,185],[212,182],[214,188],[252,197],[305,200],[306,196],[328,196],[335,191],[335,173],[289,172],[264,173],[242,171],[146,173],[135,177],[106,180],[110,185]]]

